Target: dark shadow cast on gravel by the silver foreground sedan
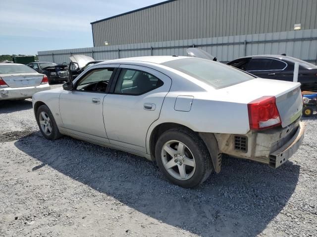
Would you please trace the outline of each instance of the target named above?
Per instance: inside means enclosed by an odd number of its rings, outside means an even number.
[[[169,184],[144,158],[69,137],[48,141],[35,132],[15,146],[43,163],[33,172],[49,165],[139,212],[203,237],[257,236],[293,194],[300,170],[291,161],[274,170],[224,157],[220,174],[188,190]]]

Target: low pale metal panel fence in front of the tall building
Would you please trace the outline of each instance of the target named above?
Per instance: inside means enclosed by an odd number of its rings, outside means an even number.
[[[296,40],[297,39],[297,40]],[[246,47],[244,41],[246,40]],[[273,42],[269,40],[275,40]],[[282,40],[276,42],[276,40]],[[260,41],[260,42],[259,42]],[[216,56],[219,61],[257,54],[282,54],[317,62],[317,29],[243,36],[215,37],[194,40],[174,40],[153,43],[111,45],[91,48],[38,52],[40,61],[69,62],[71,54],[84,54],[96,60],[151,55],[187,55],[187,46],[198,46]],[[202,46],[206,45],[208,46]],[[168,47],[168,48],[166,48]],[[119,49],[119,51],[118,51]]]

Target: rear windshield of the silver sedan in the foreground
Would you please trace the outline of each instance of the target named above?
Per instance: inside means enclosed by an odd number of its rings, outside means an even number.
[[[215,89],[254,79],[253,76],[228,65],[201,58],[177,59],[162,65],[206,82]]]

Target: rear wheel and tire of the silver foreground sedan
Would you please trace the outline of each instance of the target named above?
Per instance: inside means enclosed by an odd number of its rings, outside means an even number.
[[[189,129],[173,128],[162,133],[156,144],[155,155],[166,179],[183,188],[200,185],[212,171],[206,145]]]

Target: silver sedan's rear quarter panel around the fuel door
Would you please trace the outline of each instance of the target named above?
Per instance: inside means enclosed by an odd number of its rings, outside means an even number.
[[[246,134],[250,130],[247,104],[207,99],[208,94],[208,92],[169,92],[164,99],[159,119],[149,128],[147,151],[150,151],[152,131],[165,122],[179,123],[196,132]],[[178,95],[194,96],[189,112],[174,109]]]

